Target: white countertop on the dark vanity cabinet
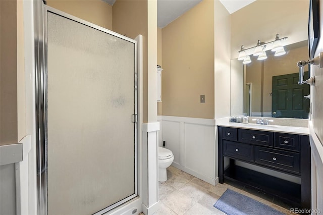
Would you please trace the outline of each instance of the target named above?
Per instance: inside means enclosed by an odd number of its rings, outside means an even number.
[[[251,130],[260,130],[260,131],[273,131],[280,133],[289,133],[289,134],[301,134],[309,135],[309,129],[305,127],[295,127],[295,126],[280,126],[280,125],[256,125],[254,123],[220,123],[217,126],[232,127],[232,128],[244,128]]]

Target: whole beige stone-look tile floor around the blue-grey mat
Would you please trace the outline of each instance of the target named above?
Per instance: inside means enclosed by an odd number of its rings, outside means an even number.
[[[290,213],[287,205],[276,201],[274,197],[257,194],[239,184],[218,184],[212,186],[195,178],[173,166],[167,169],[168,180],[159,182],[159,210],[153,215],[180,215],[180,214],[225,214],[213,207],[220,196],[230,188],[264,204],[267,204],[286,214]],[[256,194],[256,195],[255,195]],[[284,208],[286,207],[286,208]]]

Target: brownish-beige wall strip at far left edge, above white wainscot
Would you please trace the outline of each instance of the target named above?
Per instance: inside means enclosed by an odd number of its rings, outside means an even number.
[[[0,1],[0,145],[18,142],[17,2]]]

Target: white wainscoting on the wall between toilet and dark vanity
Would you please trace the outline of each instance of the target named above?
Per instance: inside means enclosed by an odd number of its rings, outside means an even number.
[[[158,116],[161,142],[173,151],[172,166],[212,185],[216,184],[215,120]]]

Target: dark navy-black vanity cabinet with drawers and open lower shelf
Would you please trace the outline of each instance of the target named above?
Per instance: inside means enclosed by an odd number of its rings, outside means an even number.
[[[219,182],[238,181],[281,198],[289,205],[311,207],[309,136],[218,126]],[[225,157],[229,167],[225,169]],[[236,165],[236,160],[301,178],[301,184]]]

